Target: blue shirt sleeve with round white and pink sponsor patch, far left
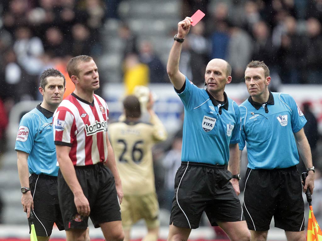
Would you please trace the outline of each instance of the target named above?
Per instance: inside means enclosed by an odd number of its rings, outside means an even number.
[[[25,114],[20,120],[14,149],[30,154],[39,126],[40,117],[37,114]]]

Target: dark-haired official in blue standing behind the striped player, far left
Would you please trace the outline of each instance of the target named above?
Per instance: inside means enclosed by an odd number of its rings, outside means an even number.
[[[49,240],[54,223],[59,230],[64,229],[58,201],[59,167],[56,165],[52,115],[62,102],[65,84],[60,71],[53,68],[43,71],[39,87],[43,102],[22,117],[14,148],[22,187],[21,204],[27,218],[33,210],[39,241]]]

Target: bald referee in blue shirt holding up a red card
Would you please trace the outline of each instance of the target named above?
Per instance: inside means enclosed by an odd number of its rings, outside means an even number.
[[[249,241],[251,234],[237,196],[240,112],[224,92],[232,81],[231,66],[223,59],[212,59],[205,71],[206,89],[198,88],[179,71],[191,22],[186,17],[178,23],[167,63],[169,78],[185,107],[182,162],[175,176],[168,240],[187,240],[206,212],[211,225],[219,225],[231,240]]]

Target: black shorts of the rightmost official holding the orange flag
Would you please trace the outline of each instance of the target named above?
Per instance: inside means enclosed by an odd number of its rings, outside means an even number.
[[[296,166],[283,169],[247,168],[243,209],[248,228],[255,231],[275,227],[304,230],[302,183]]]

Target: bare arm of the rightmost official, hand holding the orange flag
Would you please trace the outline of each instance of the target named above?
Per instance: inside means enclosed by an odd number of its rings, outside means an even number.
[[[300,129],[298,132],[294,133],[296,145],[298,147],[298,152],[302,157],[302,160],[306,168],[313,166],[311,148],[308,144],[308,139],[305,136],[304,129]],[[305,179],[305,185],[303,187],[303,192],[306,192],[307,188],[310,189],[311,194],[313,194],[314,189],[314,172],[309,171],[308,176]]]

